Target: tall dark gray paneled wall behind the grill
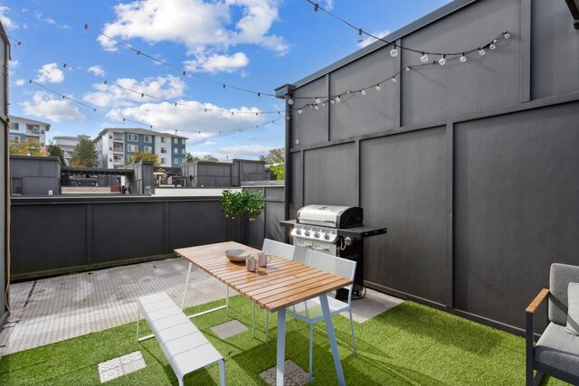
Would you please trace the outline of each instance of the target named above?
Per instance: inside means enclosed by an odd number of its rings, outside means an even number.
[[[365,241],[368,286],[516,330],[550,263],[579,264],[579,31],[564,1],[457,0],[386,39],[460,52],[505,30],[482,57],[294,111],[287,204],[359,204],[388,228]],[[421,63],[390,49],[299,80],[293,108]]]

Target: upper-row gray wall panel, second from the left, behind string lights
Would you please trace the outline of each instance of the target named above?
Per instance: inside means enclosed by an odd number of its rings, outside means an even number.
[[[379,91],[375,87],[366,90],[365,96],[345,94],[348,89],[375,86],[397,72],[396,60],[389,52],[374,52],[332,73],[330,93],[341,93],[342,101],[329,105],[330,139],[345,139],[397,126],[398,109],[394,101],[399,98],[399,93],[396,83],[387,80],[380,84]]]

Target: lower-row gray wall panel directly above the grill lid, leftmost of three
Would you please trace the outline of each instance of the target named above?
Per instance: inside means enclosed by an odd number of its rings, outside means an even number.
[[[307,150],[304,164],[304,205],[356,205],[354,143]]]

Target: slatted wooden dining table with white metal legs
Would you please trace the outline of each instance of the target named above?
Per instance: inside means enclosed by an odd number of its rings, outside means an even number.
[[[332,325],[332,318],[327,305],[328,292],[352,283],[348,278],[308,267],[297,261],[283,259],[272,255],[267,268],[258,268],[256,272],[250,272],[244,263],[232,262],[225,257],[228,249],[244,249],[253,255],[259,252],[234,241],[220,242],[216,244],[202,245],[190,248],[175,249],[177,256],[189,262],[185,291],[182,307],[185,306],[185,296],[191,269],[195,265],[203,269],[209,275],[222,281],[226,286],[233,288],[244,297],[248,297],[253,303],[269,312],[278,313],[278,341],[277,341],[277,366],[276,384],[283,385],[285,345],[286,345],[286,309],[314,297],[319,297],[319,302],[326,321],[327,338],[334,357],[337,381],[345,385],[344,372],[337,352],[336,335]],[[225,306],[218,306],[199,314],[189,315],[195,317],[204,315]]]

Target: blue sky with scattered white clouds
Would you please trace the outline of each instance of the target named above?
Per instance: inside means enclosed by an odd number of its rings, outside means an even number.
[[[380,35],[447,3],[319,1]],[[105,127],[177,129],[190,138],[187,151],[220,160],[265,155],[284,145],[285,128],[283,118],[267,123],[283,100],[220,84],[274,93],[362,46],[356,31],[306,0],[0,0],[0,17],[14,39],[10,114],[51,123],[49,139],[95,137]]]

